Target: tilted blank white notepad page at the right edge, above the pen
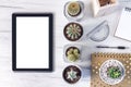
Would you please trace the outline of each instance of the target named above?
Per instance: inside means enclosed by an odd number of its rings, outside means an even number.
[[[130,8],[124,8],[122,10],[115,36],[131,41],[131,9]]]

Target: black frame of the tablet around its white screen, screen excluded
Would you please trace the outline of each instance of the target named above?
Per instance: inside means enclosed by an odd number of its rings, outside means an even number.
[[[46,16],[49,17],[49,52],[48,52],[48,63],[49,63],[49,67],[48,69],[17,69],[16,67],[16,17],[17,16]],[[53,57],[53,49],[52,49],[52,45],[53,45],[53,40],[52,40],[52,36],[53,36],[53,15],[52,13],[13,13],[12,14],[12,70],[13,71],[47,71],[47,72],[51,72],[52,71],[52,57]]]

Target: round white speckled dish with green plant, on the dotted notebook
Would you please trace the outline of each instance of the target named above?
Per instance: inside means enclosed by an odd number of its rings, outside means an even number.
[[[102,64],[99,76],[106,84],[116,85],[124,78],[126,70],[120,61],[111,59]]]

